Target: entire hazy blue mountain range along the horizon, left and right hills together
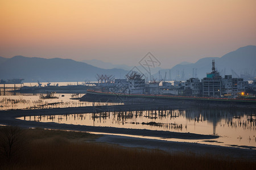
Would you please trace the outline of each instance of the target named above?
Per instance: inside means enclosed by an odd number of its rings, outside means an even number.
[[[181,62],[172,69],[156,67],[151,69],[151,75],[156,80],[164,77],[166,80],[186,80],[192,77],[201,79],[212,71],[212,59],[222,76],[256,76],[256,46],[253,45],[239,48],[222,57],[201,58],[196,63]],[[141,66],[137,68],[150,80],[150,75]],[[78,62],[61,58],[0,57],[0,79],[23,78],[24,82],[96,81],[96,74],[112,74],[115,78],[124,78],[131,69],[131,66],[114,65],[97,59]]]

